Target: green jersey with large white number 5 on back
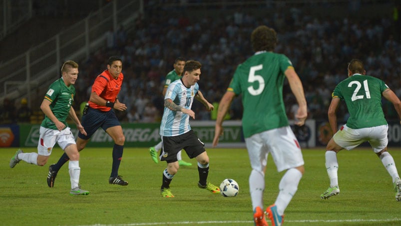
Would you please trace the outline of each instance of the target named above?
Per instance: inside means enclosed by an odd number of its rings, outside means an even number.
[[[284,71],[293,68],[287,56],[259,51],[238,65],[228,91],[242,94],[245,137],[288,125],[283,101]]]

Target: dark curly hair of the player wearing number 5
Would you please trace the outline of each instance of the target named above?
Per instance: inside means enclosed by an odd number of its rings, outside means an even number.
[[[256,27],[251,34],[252,48],[257,51],[273,51],[277,44],[277,33],[265,25]]]

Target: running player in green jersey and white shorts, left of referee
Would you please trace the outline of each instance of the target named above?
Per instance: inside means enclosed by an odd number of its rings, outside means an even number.
[[[31,164],[43,166],[51,154],[54,144],[64,150],[65,156],[71,160],[68,163],[68,171],[71,180],[71,195],[86,195],[89,191],[83,190],[79,186],[79,152],[75,143],[74,136],[67,124],[69,115],[75,122],[79,132],[86,135],[84,127],[79,122],[72,107],[75,96],[75,84],[78,78],[78,64],[72,60],[67,60],[61,67],[61,78],[50,84],[40,109],[44,113],[44,119],[40,124],[39,141],[37,153],[24,153],[18,149],[10,159],[10,167],[13,168],[20,160]]]

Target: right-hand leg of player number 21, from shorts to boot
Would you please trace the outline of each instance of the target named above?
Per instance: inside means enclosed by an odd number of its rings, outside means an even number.
[[[369,143],[372,145],[373,150],[379,156],[393,179],[396,200],[401,201],[401,179],[397,171],[396,162],[394,161],[393,156],[387,151],[387,144],[389,143],[387,130],[388,125],[375,126],[371,128],[371,138],[369,139]]]

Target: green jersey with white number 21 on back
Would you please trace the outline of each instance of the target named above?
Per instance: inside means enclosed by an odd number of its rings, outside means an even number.
[[[354,74],[341,81],[332,94],[347,104],[350,117],[347,126],[366,128],[387,124],[382,109],[382,93],[387,84],[373,76]]]

